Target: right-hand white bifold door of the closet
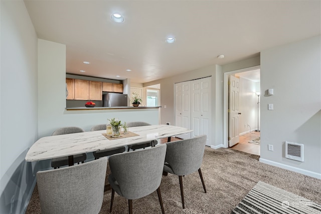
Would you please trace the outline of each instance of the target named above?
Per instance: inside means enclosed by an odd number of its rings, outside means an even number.
[[[192,136],[207,135],[206,145],[211,145],[211,77],[193,80],[191,103],[191,129]]]

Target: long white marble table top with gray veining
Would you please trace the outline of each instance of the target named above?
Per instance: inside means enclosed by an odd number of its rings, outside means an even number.
[[[25,159],[28,162],[46,160],[171,137],[193,131],[170,125],[130,127],[128,130],[139,136],[108,140],[102,135],[106,133],[106,130],[101,130],[42,137],[31,146]]]

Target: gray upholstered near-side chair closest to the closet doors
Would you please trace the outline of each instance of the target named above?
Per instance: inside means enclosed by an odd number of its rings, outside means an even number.
[[[182,204],[184,205],[183,176],[199,171],[204,191],[205,183],[202,176],[201,165],[204,155],[206,135],[191,139],[168,142],[164,171],[179,176]]]

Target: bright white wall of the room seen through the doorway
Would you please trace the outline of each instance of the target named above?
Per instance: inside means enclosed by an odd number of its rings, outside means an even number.
[[[240,77],[240,133],[245,134],[257,128],[256,82]],[[250,127],[247,126],[250,125]]]

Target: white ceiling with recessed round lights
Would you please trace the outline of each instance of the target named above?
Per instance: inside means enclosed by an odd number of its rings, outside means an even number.
[[[25,4],[39,38],[66,45],[67,73],[136,83],[259,56],[262,50],[317,36],[321,26],[320,1]],[[113,23],[114,12],[125,21]],[[167,44],[168,36],[176,43]],[[225,58],[218,59],[220,54]]]

